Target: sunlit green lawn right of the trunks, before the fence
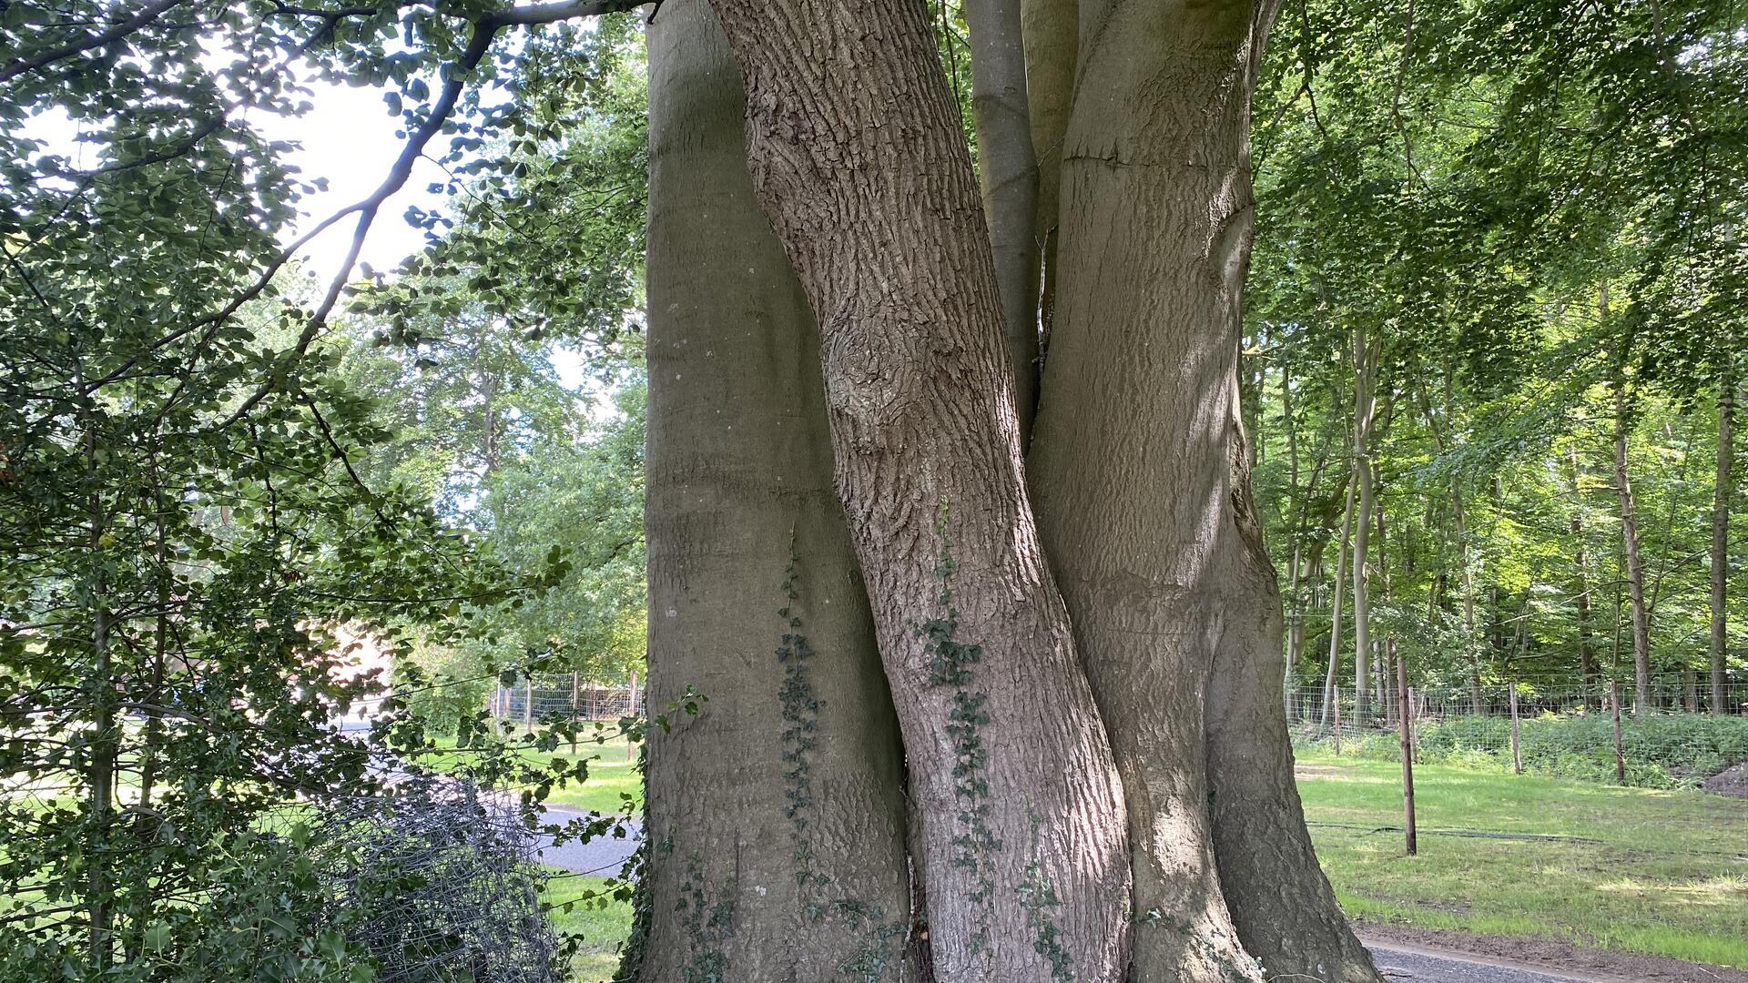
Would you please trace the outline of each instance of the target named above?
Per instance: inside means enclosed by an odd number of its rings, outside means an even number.
[[[1748,969],[1748,801],[1308,754],[1299,791],[1348,915]],[[1517,834],[1451,836],[1440,831]],[[1542,840],[1545,838],[1545,840]]]

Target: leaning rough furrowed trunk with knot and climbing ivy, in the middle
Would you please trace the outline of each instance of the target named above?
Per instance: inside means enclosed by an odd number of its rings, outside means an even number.
[[[937,978],[1122,976],[1122,791],[1026,498],[1002,308],[916,0],[713,0],[822,324],[837,490],[904,729]]]

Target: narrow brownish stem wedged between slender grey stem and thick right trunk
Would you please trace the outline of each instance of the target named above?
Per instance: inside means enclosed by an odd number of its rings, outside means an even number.
[[[1031,147],[1038,161],[1038,334],[1040,357],[1049,355],[1056,320],[1056,241],[1061,212],[1063,135],[1075,91],[1079,0],[1021,0],[1026,42],[1026,100],[1031,110]]]

